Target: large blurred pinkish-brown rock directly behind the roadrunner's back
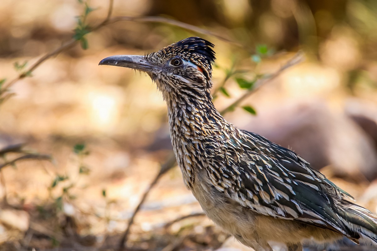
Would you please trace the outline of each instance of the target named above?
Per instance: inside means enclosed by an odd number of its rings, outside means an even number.
[[[331,111],[324,102],[290,103],[260,114],[245,129],[292,149],[315,169],[331,165],[336,176],[377,177],[372,140],[349,117]]]

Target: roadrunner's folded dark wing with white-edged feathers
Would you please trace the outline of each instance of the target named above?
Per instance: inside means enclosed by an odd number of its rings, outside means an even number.
[[[349,195],[307,161],[251,132],[240,131],[231,142],[208,170],[218,190],[257,213],[357,237],[336,213],[337,201]]]

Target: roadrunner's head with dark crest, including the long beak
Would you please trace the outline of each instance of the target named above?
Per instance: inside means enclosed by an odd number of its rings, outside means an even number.
[[[212,86],[213,44],[190,37],[145,56],[116,55],[100,65],[115,65],[148,73],[166,98],[171,94],[209,95]]]

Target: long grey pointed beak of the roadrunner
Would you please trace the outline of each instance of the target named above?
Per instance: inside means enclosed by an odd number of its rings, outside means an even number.
[[[98,65],[121,66],[151,73],[162,70],[157,65],[154,65],[151,62],[149,62],[144,56],[138,55],[110,56],[102,59]]]

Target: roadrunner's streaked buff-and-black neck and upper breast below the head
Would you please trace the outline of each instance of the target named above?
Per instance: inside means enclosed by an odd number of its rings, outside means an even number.
[[[213,106],[210,95],[201,99],[169,95],[166,98],[170,136],[177,162],[186,186],[191,189],[198,169],[206,166],[198,161],[205,154],[206,142],[221,134],[225,120]]]

